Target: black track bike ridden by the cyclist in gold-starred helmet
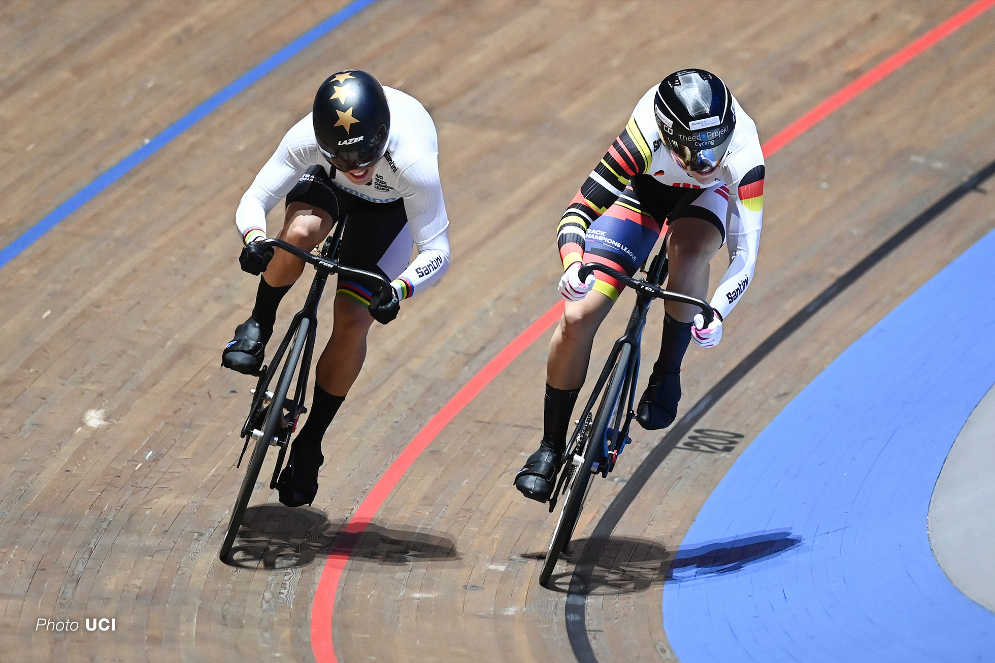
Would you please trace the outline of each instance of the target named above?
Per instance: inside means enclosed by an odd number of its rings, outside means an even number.
[[[239,490],[238,498],[236,498],[235,506],[232,509],[228,532],[225,534],[225,540],[219,552],[221,560],[226,563],[230,561],[229,553],[238,537],[246,507],[249,505],[249,498],[252,497],[252,493],[256,489],[256,480],[263,469],[266,452],[270,447],[279,449],[277,464],[270,480],[270,490],[273,490],[277,487],[277,480],[284,466],[284,458],[290,445],[291,434],[297,429],[300,415],[307,411],[307,408],[304,407],[304,396],[307,390],[307,375],[310,372],[311,355],[314,350],[314,337],[317,332],[317,305],[321,300],[321,293],[328,276],[339,274],[350,281],[369,287],[370,292],[382,292],[391,287],[390,282],[379,274],[353,269],[338,263],[344,227],[344,221],[336,222],[332,233],[325,239],[321,251],[317,255],[298,249],[298,247],[283,240],[275,238],[260,240],[266,246],[281,248],[305,263],[313,265],[316,273],[303,308],[294,317],[291,327],[280,343],[276,354],[273,355],[270,365],[264,365],[260,368],[256,388],[252,390],[252,406],[249,409],[249,416],[246,417],[245,424],[242,426],[241,436],[245,442],[242,445],[242,454],[239,456],[236,467],[241,467],[250,443],[253,444],[253,450],[246,467],[246,475],[242,480],[242,488]],[[290,354],[287,354],[288,348],[290,348]],[[271,390],[271,382],[285,355],[287,355],[287,361],[283,364],[276,388]],[[295,373],[298,375],[297,387],[294,390],[293,398],[288,398]]]

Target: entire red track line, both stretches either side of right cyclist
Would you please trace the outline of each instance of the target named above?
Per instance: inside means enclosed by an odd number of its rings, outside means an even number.
[[[976,0],[973,4],[968,5],[967,8],[954,14],[943,23],[911,42],[895,55],[880,63],[825,102],[809,110],[779,131],[763,145],[764,155],[770,157],[799,135],[812,128],[812,126],[825,119],[834,110],[851,102],[858,95],[894,73],[898,68],[921,54],[930,46],[933,46],[958,28],[967,25],[967,23],[985,11],[991,9],[992,6],[995,6],[995,0]],[[356,509],[355,513],[353,513],[348,524],[342,529],[342,533],[336,538],[335,546],[327,560],[325,560],[324,567],[321,569],[321,576],[318,579],[317,588],[314,591],[314,600],[311,605],[311,648],[313,649],[314,659],[317,663],[337,663],[338,661],[335,657],[335,648],[332,644],[331,636],[331,617],[335,607],[335,594],[338,591],[338,583],[341,579],[342,571],[345,569],[345,562],[348,561],[349,554],[352,552],[356,541],[370,525],[370,522],[373,520],[376,512],[379,511],[384,500],[387,499],[387,496],[401,480],[407,469],[411,467],[411,464],[415,462],[415,459],[428,447],[442,429],[471,400],[483,391],[484,387],[490,384],[491,380],[497,377],[497,374],[511,363],[522,350],[528,347],[532,341],[545,331],[548,331],[553,326],[553,323],[559,320],[562,311],[563,305],[560,303],[542,314],[537,321],[532,323],[528,329],[518,334],[479,373],[474,375],[432,417],[425,427],[418,432],[415,438],[405,447],[404,451],[401,452],[401,455],[391,463],[390,467],[387,468],[387,472],[384,473],[383,477],[380,478]]]

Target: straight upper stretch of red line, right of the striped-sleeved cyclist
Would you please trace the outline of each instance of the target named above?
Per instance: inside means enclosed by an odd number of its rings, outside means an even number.
[[[809,110],[804,115],[774,134],[774,137],[768,140],[763,146],[764,157],[770,158],[782,147],[821,122],[834,111],[840,109],[840,107],[844,106],[848,102],[853,101],[853,99],[862,92],[871,88],[882,79],[888,77],[889,74],[894,73],[902,65],[908,63],[909,60],[919,55],[930,46],[933,46],[936,42],[939,42],[944,37],[948,37],[956,30],[964,27],[977,17],[981,16],[986,11],[991,9],[992,6],[995,6],[995,0],[977,0],[947,20],[943,21],[929,32],[917,38],[915,41],[908,44],[908,46],[898,51],[892,57],[882,63],[879,63],[865,74],[862,74],[856,80],[834,93],[822,104],[812,110]]]

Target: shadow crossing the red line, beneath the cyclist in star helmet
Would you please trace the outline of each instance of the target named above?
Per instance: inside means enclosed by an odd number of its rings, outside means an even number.
[[[229,563],[243,568],[295,568],[316,557],[348,556],[385,565],[418,561],[458,561],[456,543],[447,537],[371,524],[361,534],[342,532],[310,507],[291,509],[264,504],[246,509]]]

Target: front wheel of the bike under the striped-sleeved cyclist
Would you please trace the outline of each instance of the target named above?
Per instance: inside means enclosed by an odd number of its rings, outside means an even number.
[[[629,364],[629,356],[632,353],[632,346],[625,343],[619,349],[618,358],[612,369],[611,379],[608,381],[608,388],[601,397],[598,405],[597,415],[594,417],[594,425],[591,429],[590,437],[585,441],[583,460],[577,466],[574,476],[567,487],[566,496],[563,499],[563,509],[560,510],[559,519],[553,529],[553,536],[546,551],[546,558],[542,563],[542,570],[539,571],[539,584],[548,588],[549,579],[560,554],[573,537],[573,530],[577,526],[580,518],[580,509],[587,497],[587,490],[591,482],[591,468],[594,461],[603,455],[605,436],[608,433],[608,422],[618,406],[621,397],[622,385],[625,382],[628,371],[625,369]],[[621,370],[620,370],[621,368]],[[606,407],[607,406],[607,407]],[[583,418],[581,419],[583,424]],[[570,461],[568,461],[570,462]],[[567,468],[564,468],[564,472]]]

